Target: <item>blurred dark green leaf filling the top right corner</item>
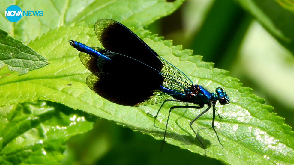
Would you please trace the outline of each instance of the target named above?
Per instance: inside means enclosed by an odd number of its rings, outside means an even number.
[[[285,0],[238,0],[283,46],[294,53],[294,4]]]

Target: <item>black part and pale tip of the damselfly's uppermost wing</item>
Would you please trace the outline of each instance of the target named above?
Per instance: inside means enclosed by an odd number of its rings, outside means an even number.
[[[95,33],[105,49],[134,58],[156,70],[162,68],[158,54],[125,25],[112,19],[100,19],[95,23]]]

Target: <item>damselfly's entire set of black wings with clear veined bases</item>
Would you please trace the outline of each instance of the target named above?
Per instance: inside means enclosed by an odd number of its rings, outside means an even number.
[[[86,67],[98,72],[89,69],[93,74],[86,82],[103,98],[125,106],[151,105],[184,96],[193,85],[184,73],[121,23],[98,20],[95,33],[111,52],[104,53],[109,59],[98,57],[88,62],[91,67]]]

